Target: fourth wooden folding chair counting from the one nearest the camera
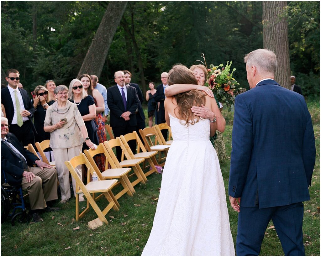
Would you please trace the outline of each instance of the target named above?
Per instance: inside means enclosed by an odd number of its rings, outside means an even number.
[[[153,172],[158,174],[156,167],[155,167],[155,165],[158,165],[156,158],[155,158],[157,151],[147,152],[136,131],[133,131],[132,133],[128,133],[124,136],[121,135],[120,139],[126,148],[125,156],[127,159],[144,158],[145,160],[148,161],[151,169],[144,173],[146,177],[151,175]],[[136,141],[137,153],[133,153],[133,151],[130,149],[130,147],[128,145],[128,141],[130,141],[130,140]],[[146,168],[146,167],[144,167],[144,168]]]

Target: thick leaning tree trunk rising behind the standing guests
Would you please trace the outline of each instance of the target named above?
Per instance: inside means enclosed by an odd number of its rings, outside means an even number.
[[[123,16],[126,5],[127,1],[109,2],[79,70],[78,77],[83,73],[95,74],[100,77],[109,47]]]

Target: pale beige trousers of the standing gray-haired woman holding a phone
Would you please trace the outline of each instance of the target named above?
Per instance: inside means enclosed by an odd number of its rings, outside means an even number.
[[[70,184],[69,184],[69,170],[65,165],[65,161],[69,161],[71,158],[79,155],[82,151],[82,144],[66,148],[66,149],[52,149],[55,156],[55,165],[58,173],[58,180],[60,184],[61,200],[70,199]],[[78,176],[82,178],[81,166],[75,168]],[[76,181],[72,177],[74,195],[76,196]]]

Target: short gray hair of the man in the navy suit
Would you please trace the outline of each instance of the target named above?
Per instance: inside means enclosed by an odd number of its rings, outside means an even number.
[[[257,49],[248,53],[244,56],[244,62],[247,66],[256,66],[258,71],[272,74],[276,72],[278,66],[276,55],[267,49]]]

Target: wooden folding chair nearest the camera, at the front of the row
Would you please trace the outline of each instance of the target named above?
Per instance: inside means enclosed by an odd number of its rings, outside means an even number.
[[[75,168],[79,165],[85,164],[88,169],[88,176],[87,176],[87,184],[83,184],[82,178],[78,176],[77,172],[75,171]],[[116,200],[114,194],[112,193],[111,189],[114,187],[114,185],[117,183],[117,179],[110,179],[110,180],[100,180],[100,177],[98,177],[98,181],[92,182],[90,181],[90,174],[93,173],[93,167],[89,163],[88,159],[84,155],[84,153],[81,153],[78,156],[75,156],[74,158],[71,158],[70,161],[65,161],[65,165],[68,167],[71,176],[74,177],[76,180],[76,220],[78,221],[79,218],[82,218],[86,212],[89,210],[89,205],[95,210],[96,214],[98,215],[98,218],[108,224],[108,221],[106,219],[106,214],[108,211],[113,208],[114,210],[119,210],[119,203]],[[84,196],[87,199],[87,207],[79,213],[79,194],[83,193]],[[108,201],[108,205],[106,208],[101,211],[98,207],[96,201],[91,196],[91,193],[103,193]]]

